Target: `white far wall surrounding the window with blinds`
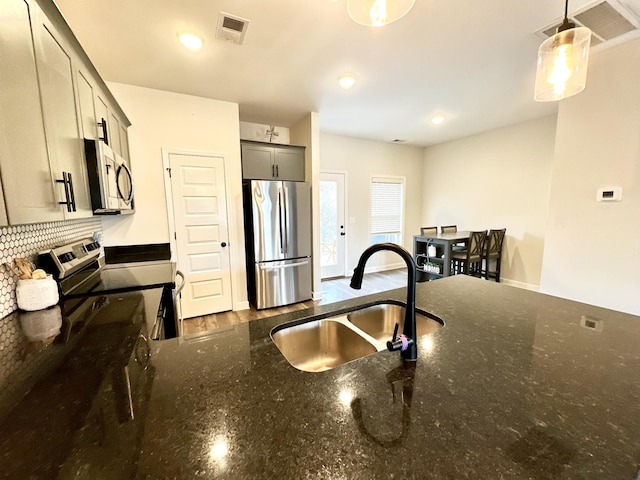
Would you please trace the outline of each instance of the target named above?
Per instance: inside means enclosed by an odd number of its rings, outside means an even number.
[[[420,233],[423,149],[326,133],[320,134],[320,143],[320,170],[348,172],[347,271],[353,271],[360,254],[371,244],[369,199],[375,175],[406,177],[403,246],[412,252],[413,235]],[[379,252],[367,262],[367,271],[399,266],[404,263],[397,255]]]

